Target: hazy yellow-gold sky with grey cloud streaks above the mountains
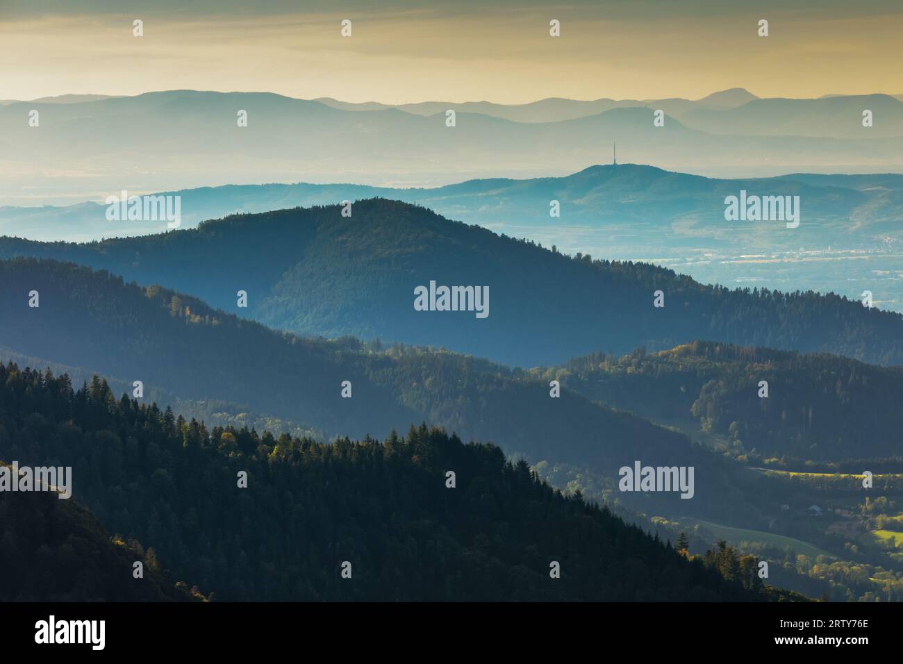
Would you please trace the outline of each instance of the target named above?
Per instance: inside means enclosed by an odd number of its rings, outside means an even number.
[[[136,18],[144,37],[132,36]],[[350,38],[340,36],[345,18]],[[157,89],[386,103],[700,98],[733,87],[899,94],[901,35],[900,0],[0,0],[0,99]]]

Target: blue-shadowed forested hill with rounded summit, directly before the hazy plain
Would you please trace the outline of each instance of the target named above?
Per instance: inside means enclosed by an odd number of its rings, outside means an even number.
[[[903,363],[903,316],[836,295],[729,290],[647,264],[566,257],[398,201],[341,211],[278,210],[81,245],[0,238],[0,257],[107,269],[293,332],[431,344],[525,367],[694,339]],[[488,317],[415,311],[414,288],[431,281],[489,286]],[[237,308],[239,290],[247,309]]]

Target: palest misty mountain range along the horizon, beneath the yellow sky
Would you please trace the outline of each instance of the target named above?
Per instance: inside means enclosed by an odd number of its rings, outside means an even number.
[[[900,99],[753,97],[727,90],[696,101],[349,110],[358,107],[271,93],[169,90],[12,102],[0,106],[0,187],[5,204],[27,205],[229,182],[435,186],[573,173],[607,161],[614,143],[625,162],[721,177],[903,172]],[[873,126],[862,126],[864,109]],[[454,126],[446,124],[449,110]],[[654,125],[656,110],[664,112],[664,126]],[[29,124],[32,111],[37,126]],[[238,126],[239,111],[247,112],[247,126]],[[66,175],[73,171],[82,174]]]

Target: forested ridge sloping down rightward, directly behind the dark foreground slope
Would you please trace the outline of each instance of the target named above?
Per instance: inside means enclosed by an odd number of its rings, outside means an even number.
[[[119,379],[130,394],[141,380],[146,390],[247,405],[330,437],[384,435],[426,421],[530,463],[579,465],[610,484],[636,460],[694,465],[694,500],[669,492],[624,500],[712,518],[749,509],[725,500],[741,484],[721,455],[573,391],[550,397],[548,381],[522,371],[449,352],[301,339],[187,295],[55,261],[0,261],[0,283],[0,357],[9,349],[38,359],[28,360],[36,366],[89,369]],[[32,290],[38,307],[28,306]],[[343,380],[350,398],[341,397]]]

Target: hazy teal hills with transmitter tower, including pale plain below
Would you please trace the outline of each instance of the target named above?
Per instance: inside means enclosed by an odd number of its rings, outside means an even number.
[[[730,196],[777,196],[799,225],[725,220]],[[263,212],[382,197],[424,205],[451,219],[529,238],[563,253],[644,260],[703,283],[817,290],[903,310],[903,175],[793,173],[717,180],[653,166],[591,166],[565,177],[471,180],[433,189],[358,184],[230,185],[163,192],[179,196],[181,228],[237,212]],[[798,196],[798,200],[794,197]],[[557,201],[559,216],[550,215]],[[796,202],[794,202],[796,201]],[[166,221],[107,220],[101,203],[0,208],[0,234],[39,240],[144,235]]]

